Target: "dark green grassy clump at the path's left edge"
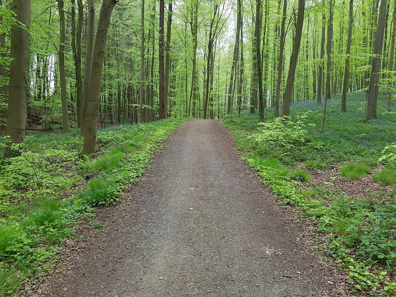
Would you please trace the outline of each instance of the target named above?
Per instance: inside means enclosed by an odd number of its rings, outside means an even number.
[[[82,200],[90,206],[109,206],[118,201],[119,195],[114,187],[108,185],[101,178],[92,179],[87,189],[82,192]]]

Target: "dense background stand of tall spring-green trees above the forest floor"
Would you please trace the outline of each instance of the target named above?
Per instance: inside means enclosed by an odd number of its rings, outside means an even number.
[[[120,1],[107,35],[98,32],[106,39],[95,49],[99,60],[93,55],[100,14],[95,1],[54,3],[32,1],[27,103],[15,108],[19,101],[7,101],[8,93],[15,96],[8,90],[14,83],[11,78],[8,86],[15,54],[11,6],[0,2],[0,123],[10,113],[11,127],[22,116],[14,113],[25,109],[28,129],[81,128],[82,137],[89,134],[86,153],[94,150],[94,129],[106,124],[222,118],[244,110],[263,121],[267,106],[277,115],[282,106],[288,115],[293,102],[320,105],[324,94],[326,105],[341,91],[346,112],[346,96],[356,90],[368,91],[366,121],[377,116],[378,93],[386,93],[393,108],[394,1],[385,8],[383,0],[307,2],[303,16],[301,3],[296,9],[287,0],[144,0],[139,7]]]

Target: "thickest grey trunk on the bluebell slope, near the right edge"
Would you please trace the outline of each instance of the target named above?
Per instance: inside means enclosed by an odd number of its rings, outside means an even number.
[[[374,41],[374,57],[371,69],[370,85],[367,94],[367,112],[365,122],[373,118],[377,118],[377,100],[378,100],[378,84],[381,71],[381,55],[382,46],[384,43],[384,30],[385,30],[385,15],[386,15],[387,0],[381,0],[379,7],[379,17],[377,32]]]

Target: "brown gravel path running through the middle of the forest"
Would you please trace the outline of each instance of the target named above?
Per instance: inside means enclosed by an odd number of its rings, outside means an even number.
[[[36,296],[342,295],[217,120],[181,124],[129,194]]]

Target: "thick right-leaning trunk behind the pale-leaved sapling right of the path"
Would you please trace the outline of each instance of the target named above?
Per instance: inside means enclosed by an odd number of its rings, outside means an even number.
[[[298,16],[297,16],[297,22],[295,25],[295,36],[294,36],[294,42],[293,42],[293,49],[291,51],[289,75],[287,76],[286,90],[285,90],[285,95],[283,98],[282,117],[289,116],[289,112],[290,112],[290,103],[291,103],[291,95],[293,92],[295,70],[296,70],[296,66],[297,66],[298,53],[300,50],[301,34],[303,32],[304,9],[305,9],[305,1],[299,0],[298,1]]]

